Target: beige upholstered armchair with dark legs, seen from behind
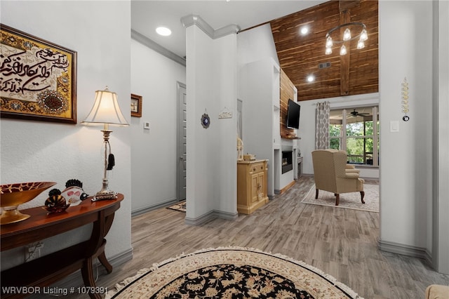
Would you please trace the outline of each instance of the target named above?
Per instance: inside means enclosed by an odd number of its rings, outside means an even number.
[[[347,166],[347,154],[340,150],[314,150],[311,152],[314,164],[314,178],[316,194],[319,190],[333,192],[335,194],[335,206],[338,206],[341,193],[360,192],[362,204],[363,179],[358,178],[358,170]],[[349,168],[347,168],[349,167]]]

